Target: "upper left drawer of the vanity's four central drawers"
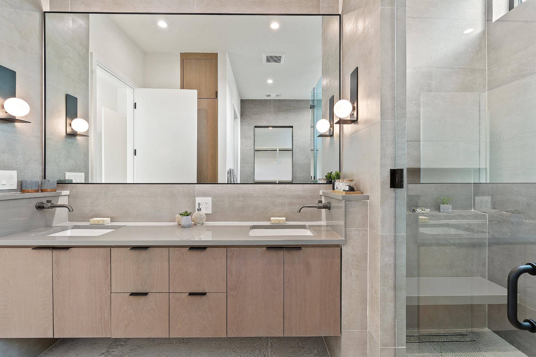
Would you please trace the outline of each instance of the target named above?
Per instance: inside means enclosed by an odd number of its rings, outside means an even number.
[[[168,248],[111,248],[111,292],[169,291]]]

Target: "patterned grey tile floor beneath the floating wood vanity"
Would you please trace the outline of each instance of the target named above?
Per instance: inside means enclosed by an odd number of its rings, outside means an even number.
[[[329,357],[322,337],[62,338],[40,357]]]

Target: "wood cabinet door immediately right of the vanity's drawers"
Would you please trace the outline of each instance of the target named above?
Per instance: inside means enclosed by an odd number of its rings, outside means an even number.
[[[283,250],[227,248],[227,336],[283,336]]]

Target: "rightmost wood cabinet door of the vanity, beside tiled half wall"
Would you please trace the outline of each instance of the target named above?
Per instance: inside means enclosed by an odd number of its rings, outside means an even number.
[[[340,248],[285,250],[285,336],[340,335]]]

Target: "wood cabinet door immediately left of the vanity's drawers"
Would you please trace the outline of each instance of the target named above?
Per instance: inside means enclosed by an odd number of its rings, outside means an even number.
[[[54,337],[110,336],[110,248],[53,250]]]

